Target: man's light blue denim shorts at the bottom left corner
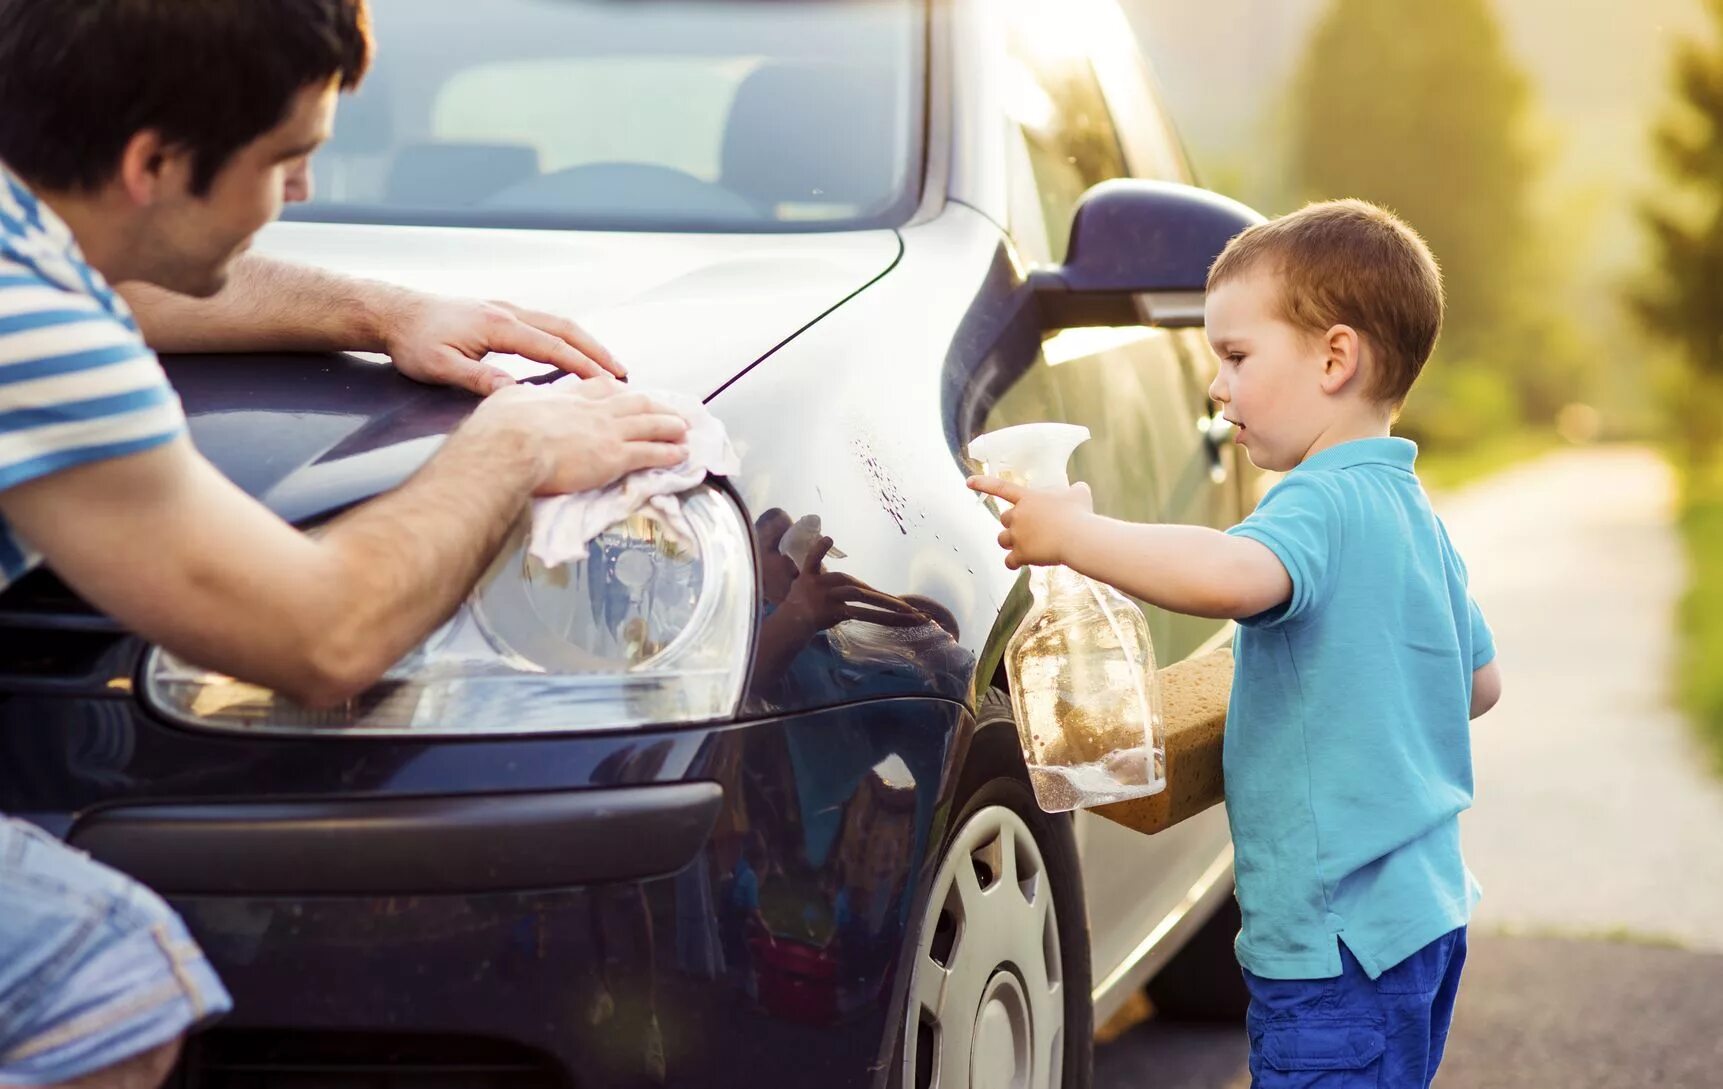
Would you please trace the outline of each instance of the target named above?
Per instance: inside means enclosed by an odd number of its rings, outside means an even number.
[[[95,1073],[229,1008],[160,896],[0,817],[0,1084]]]

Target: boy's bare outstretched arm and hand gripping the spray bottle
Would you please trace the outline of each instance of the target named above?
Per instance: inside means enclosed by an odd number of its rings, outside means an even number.
[[[1203,526],[1139,526],[1094,513],[1089,488],[1027,489],[996,477],[970,488],[1013,503],[999,520],[1005,565],[1063,563],[1161,608],[1254,617],[1292,596],[1292,577],[1258,541]]]

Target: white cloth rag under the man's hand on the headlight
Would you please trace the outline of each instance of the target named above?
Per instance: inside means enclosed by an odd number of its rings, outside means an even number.
[[[555,383],[581,381],[569,376]],[[700,398],[669,389],[634,389],[644,393],[687,420],[687,460],[672,469],[641,469],[608,488],[575,491],[532,501],[532,557],[546,567],[586,558],[593,538],[639,510],[658,515],[665,529],[691,544],[694,539],[682,517],[682,493],[705,482],[706,474],[734,476],[741,458],[731,436]]]

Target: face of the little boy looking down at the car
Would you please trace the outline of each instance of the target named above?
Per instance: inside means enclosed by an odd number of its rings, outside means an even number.
[[[1234,441],[1258,469],[1296,467],[1334,414],[1322,389],[1327,345],[1280,317],[1278,277],[1266,271],[1216,286],[1203,314],[1220,357],[1208,396],[1239,426]]]

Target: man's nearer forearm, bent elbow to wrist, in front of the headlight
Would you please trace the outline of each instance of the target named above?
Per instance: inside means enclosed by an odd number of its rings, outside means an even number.
[[[407,484],[320,536],[345,607],[314,646],[341,688],[369,686],[455,612],[543,479],[538,450],[524,434],[457,431]]]

